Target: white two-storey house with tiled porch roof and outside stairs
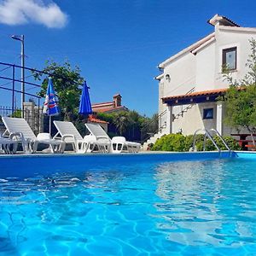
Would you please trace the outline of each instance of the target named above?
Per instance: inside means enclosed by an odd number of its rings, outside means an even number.
[[[233,132],[224,124],[223,103],[217,101],[229,88],[223,67],[230,69],[233,79],[244,78],[249,40],[256,38],[256,28],[241,27],[220,15],[208,23],[214,28],[211,34],[158,66],[162,72],[155,78],[159,80],[160,136],[212,128],[222,135]]]

